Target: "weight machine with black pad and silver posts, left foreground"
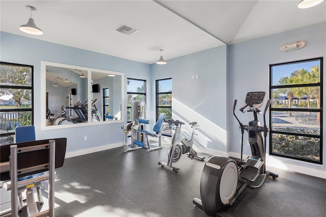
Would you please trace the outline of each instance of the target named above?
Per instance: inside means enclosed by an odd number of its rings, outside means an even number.
[[[66,144],[67,139],[60,138],[0,146],[0,188],[11,191],[11,209],[1,215],[11,212],[13,217],[55,216],[55,169],[63,166]],[[46,173],[32,176],[42,172]],[[18,181],[25,176],[28,178]],[[41,182],[45,180],[49,182],[49,208],[40,212],[44,204]]]

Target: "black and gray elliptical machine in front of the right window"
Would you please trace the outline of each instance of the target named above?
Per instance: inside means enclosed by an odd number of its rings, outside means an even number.
[[[233,115],[237,119],[241,129],[241,159],[233,160],[223,156],[211,156],[205,163],[200,180],[200,197],[194,198],[193,203],[202,209],[207,215],[215,216],[226,206],[233,206],[246,186],[252,189],[262,186],[268,176],[277,178],[278,174],[265,170],[266,166],[266,137],[268,128],[266,126],[265,114],[270,104],[267,100],[264,109],[264,126],[261,127],[257,114],[263,105],[266,92],[249,92],[246,96],[246,103],[240,108],[242,113],[253,112],[254,120],[248,125],[243,125],[235,115],[237,100],[234,100]],[[246,130],[249,134],[249,143],[252,155],[242,160],[243,133]],[[262,139],[262,132],[264,140]],[[259,176],[263,176],[258,185],[254,185]]]

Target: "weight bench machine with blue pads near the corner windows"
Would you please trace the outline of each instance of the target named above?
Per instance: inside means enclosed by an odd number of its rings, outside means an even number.
[[[150,120],[144,120],[144,119],[134,120],[131,127],[129,127],[131,130],[131,145],[128,145],[128,142],[127,142],[128,130],[127,129],[124,130],[124,133],[125,133],[125,144],[123,145],[124,152],[132,151],[132,150],[136,150],[136,149],[140,149],[140,148],[147,148],[146,151],[150,152],[152,150],[162,148],[161,134],[162,134],[162,129],[163,129],[164,118],[165,118],[165,113],[159,114],[158,119],[153,127],[154,132],[149,132],[144,129],[141,129],[141,124],[150,124]],[[136,135],[138,132],[141,133],[142,138],[145,138],[144,139],[145,142],[135,139],[135,138],[137,138]],[[148,140],[148,136],[158,138],[158,146],[151,147],[149,140]]]

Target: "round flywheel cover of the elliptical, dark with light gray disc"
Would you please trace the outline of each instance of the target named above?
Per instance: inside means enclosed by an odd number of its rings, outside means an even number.
[[[234,197],[238,184],[236,162],[228,157],[212,156],[204,166],[200,180],[203,210],[215,216]]]

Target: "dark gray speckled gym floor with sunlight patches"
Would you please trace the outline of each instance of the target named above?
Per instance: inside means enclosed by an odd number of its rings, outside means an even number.
[[[145,149],[124,153],[121,147],[66,159],[57,169],[56,216],[207,216],[192,202],[200,197],[204,162],[184,154],[175,173],[158,166],[158,161],[167,161],[167,147],[150,153]],[[248,187],[226,213],[325,215],[325,179],[273,171],[279,178],[268,178],[258,189]]]

